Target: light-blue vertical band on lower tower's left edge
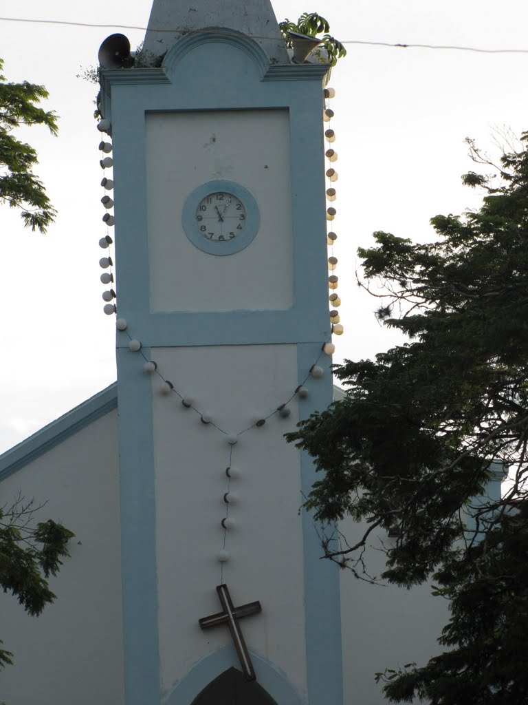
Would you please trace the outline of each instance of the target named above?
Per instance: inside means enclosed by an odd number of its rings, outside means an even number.
[[[149,359],[150,351],[143,348]],[[158,575],[151,376],[118,350],[123,661],[126,705],[160,699]]]

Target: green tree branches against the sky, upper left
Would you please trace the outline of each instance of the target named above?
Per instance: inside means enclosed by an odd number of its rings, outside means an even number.
[[[56,135],[57,116],[38,106],[48,97],[44,86],[27,81],[6,82],[1,75],[3,66],[0,59],[0,202],[20,209],[25,226],[45,233],[56,211],[44,185],[32,171],[38,162],[37,152],[20,142],[13,130],[20,125],[46,125],[51,134]]]

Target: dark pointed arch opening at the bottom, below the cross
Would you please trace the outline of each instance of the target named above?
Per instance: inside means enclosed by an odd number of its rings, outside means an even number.
[[[256,680],[246,680],[237,668],[229,668],[211,681],[191,705],[278,705]]]

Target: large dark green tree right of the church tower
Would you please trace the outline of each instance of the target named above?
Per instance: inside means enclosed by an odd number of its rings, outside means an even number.
[[[381,578],[432,580],[449,601],[448,649],[377,674],[393,702],[528,702],[527,140],[495,176],[463,176],[485,190],[482,207],[434,217],[434,242],[378,232],[359,250],[365,286],[386,287],[377,316],[409,342],[346,360],[335,371],[344,400],[289,434],[324,471],[306,507],[322,522],[367,522],[353,542],[324,541],[327,558],[369,579],[365,548],[376,532],[397,534]],[[497,464],[511,486],[487,496]]]

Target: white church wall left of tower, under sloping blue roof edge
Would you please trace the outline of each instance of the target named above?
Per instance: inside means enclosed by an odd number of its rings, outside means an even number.
[[[0,485],[47,504],[37,520],[75,532],[71,558],[50,580],[58,599],[39,618],[0,594],[0,638],[15,665],[0,675],[8,705],[120,705],[122,615],[117,412],[77,432]]]

